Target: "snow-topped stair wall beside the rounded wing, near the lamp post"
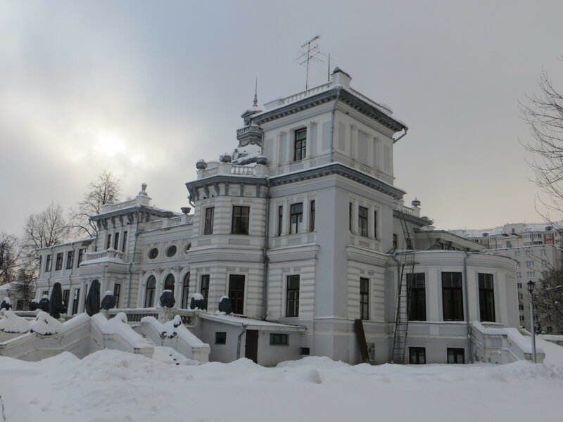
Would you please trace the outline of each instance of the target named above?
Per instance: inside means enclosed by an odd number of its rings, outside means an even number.
[[[522,335],[516,328],[486,328],[479,321],[471,323],[471,338],[474,356],[480,362],[507,364],[517,360],[533,360],[531,338]],[[536,347],[538,363],[545,353]]]

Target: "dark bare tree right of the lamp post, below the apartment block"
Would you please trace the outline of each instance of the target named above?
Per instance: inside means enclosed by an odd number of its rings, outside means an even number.
[[[552,269],[540,284],[540,288],[534,290],[539,319],[553,326],[557,333],[563,333],[563,269]]]

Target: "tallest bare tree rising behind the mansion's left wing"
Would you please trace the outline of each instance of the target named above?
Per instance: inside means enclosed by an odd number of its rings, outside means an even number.
[[[98,234],[96,224],[91,222],[90,216],[99,214],[102,206],[109,200],[118,200],[120,183],[120,179],[107,170],[90,182],[82,201],[75,209],[70,210],[70,226],[77,236],[94,237]]]

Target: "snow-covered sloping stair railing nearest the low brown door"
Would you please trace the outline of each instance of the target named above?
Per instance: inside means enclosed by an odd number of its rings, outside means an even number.
[[[209,362],[209,345],[203,343],[196,335],[191,333],[182,324],[182,318],[179,315],[171,321],[165,322],[165,324],[160,323],[153,316],[146,316],[141,319],[141,324],[134,329],[137,333],[150,338],[156,345],[172,347],[188,359],[196,360],[202,364]]]

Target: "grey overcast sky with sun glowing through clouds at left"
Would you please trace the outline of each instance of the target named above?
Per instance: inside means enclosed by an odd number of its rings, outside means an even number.
[[[0,231],[74,205],[103,170],[179,211],[196,160],[236,148],[255,76],[260,103],[304,89],[294,59],[314,34],[409,126],[407,203],[442,229],[538,222],[517,102],[542,67],[563,87],[562,16],[562,1],[2,1]]]

